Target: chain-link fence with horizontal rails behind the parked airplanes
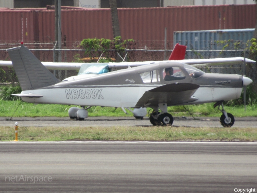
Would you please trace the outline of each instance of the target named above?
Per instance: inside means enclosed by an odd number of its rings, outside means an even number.
[[[19,43],[12,44],[0,44],[0,60],[10,60],[9,55],[6,51],[7,48],[19,46]],[[92,52],[92,57],[95,59],[89,58],[85,55],[85,50],[81,47],[77,47],[78,42],[69,44],[69,47],[63,46],[61,50],[62,61],[63,62],[96,62],[98,57],[101,55],[101,52]],[[40,43],[40,44],[26,44],[26,46],[31,50],[31,52],[40,60],[52,62],[54,61],[54,50],[53,43]],[[56,50],[55,50],[56,51]],[[161,61],[166,60],[170,56],[172,50],[164,49],[127,49],[125,52],[120,53],[122,57],[127,54],[126,61]],[[248,57],[249,51],[246,50],[246,57]],[[114,50],[110,50],[108,53],[109,57],[112,57],[114,60],[118,60],[117,54]],[[105,57],[103,54],[102,57]],[[210,50],[210,51],[192,51],[187,50],[185,59],[208,59],[208,58],[219,58],[219,57],[244,57],[244,50]],[[243,65],[212,65],[201,67],[201,70],[211,73],[229,73],[229,74],[240,74],[243,75]],[[72,70],[62,70],[62,71],[53,71],[55,75],[60,80],[63,80],[67,77],[77,75],[77,71]],[[257,68],[256,63],[247,64],[246,76],[253,79],[254,83],[257,83]],[[9,84],[18,82],[15,72],[12,67],[0,67],[0,83]]]

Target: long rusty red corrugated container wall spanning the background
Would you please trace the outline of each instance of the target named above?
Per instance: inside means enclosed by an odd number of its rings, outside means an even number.
[[[178,6],[118,9],[123,39],[140,44],[160,43],[164,47],[167,27],[169,48],[173,47],[174,31],[254,28],[256,4],[217,6]],[[110,9],[62,9],[62,37],[67,42],[85,38],[113,39]],[[54,10],[0,9],[0,41],[52,42]]]

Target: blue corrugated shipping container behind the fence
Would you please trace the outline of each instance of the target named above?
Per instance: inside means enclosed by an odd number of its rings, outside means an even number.
[[[175,31],[173,35],[174,43],[186,45],[191,50],[216,50],[222,49],[224,44],[218,43],[221,40],[230,40],[235,43],[239,41],[242,49],[245,43],[252,39],[254,29],[223,29],[205,31]]]

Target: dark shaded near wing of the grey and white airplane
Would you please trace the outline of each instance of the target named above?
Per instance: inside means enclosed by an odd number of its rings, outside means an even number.
[[[171,106],[196,101],[198,98],[192,95],[199,87],[192,83],[165,84],[146,91],[138,100],[136,107],[158,106],[159,103]]]

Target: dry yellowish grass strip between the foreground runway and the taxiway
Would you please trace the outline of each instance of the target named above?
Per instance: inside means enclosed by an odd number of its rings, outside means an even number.
[[[0,126],[0,141],[15,139],[13,127]],[[256,128],[191,127],[19,127],[19,141],[257,141]]]

